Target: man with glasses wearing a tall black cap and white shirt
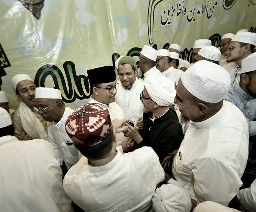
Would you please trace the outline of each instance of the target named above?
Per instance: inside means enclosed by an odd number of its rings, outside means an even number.
[[[103,66],[87,70],[90,82],[91,97],[88,103],[103,104],[108,110],[111,121],[123,119],[122,108],[116,104],[116,93],[119,84],[116,82],[116,73],[113,66]],[[123,133],[116,133],[116,144],[121,145],[125,137]]]

